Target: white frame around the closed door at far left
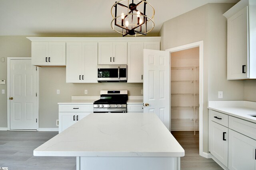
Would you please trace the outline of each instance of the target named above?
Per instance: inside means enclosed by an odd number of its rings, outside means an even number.
[[[31,57],[7,57],[7,130],[10,129],[10,64],[11,60],[31,60]],[[36,131],[38,131],[39,128],[39,70],[37,68],[36,72],[36,117],[37,117],[37,123],[36,123]],[[17,131],[17,130],[16,130]],[[33,130],[22,130],[22,131],[33,131]]]

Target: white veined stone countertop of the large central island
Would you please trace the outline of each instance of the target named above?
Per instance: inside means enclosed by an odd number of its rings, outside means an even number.
[[[34,156],[184,156],[154,113],[91,113],[34,150]]]

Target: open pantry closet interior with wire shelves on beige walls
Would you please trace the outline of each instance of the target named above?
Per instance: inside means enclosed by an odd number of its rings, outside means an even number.
[[[199,130],[199,47],[171,53],[171,129]]]

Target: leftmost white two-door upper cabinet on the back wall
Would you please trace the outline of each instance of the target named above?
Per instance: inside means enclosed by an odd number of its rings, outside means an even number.
[[[65,42],[32,42],[32,65],[65,66]]]

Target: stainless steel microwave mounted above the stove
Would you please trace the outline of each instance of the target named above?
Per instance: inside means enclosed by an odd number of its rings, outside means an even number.
[[[127,65],[98,65],[99,82],[127,82]]]

